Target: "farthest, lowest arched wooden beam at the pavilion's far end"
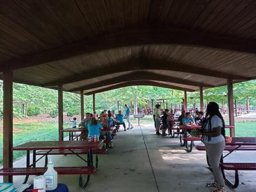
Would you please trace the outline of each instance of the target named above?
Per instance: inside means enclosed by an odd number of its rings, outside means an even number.
[[[93,93],[101,93],[101,92],[107,92],[109,90],[115,90],[118,88],[122,88],[125,86],[134,86],[134,85],[150,85],[150,86],[159,86],[163,88],[172,88],[175,90],[186,90],[188,92],[195,92],[195,90],[187,89],[187,88],[181,88],[179,86],[172,86],[170,84],[164,84],[164,83],[157,83],[154,81],[127,81],[124,83],[115,84],[112,86],[108,86],[107,88],[99,88],[97,90],[94,90],[92,92],[85,92],[85,95],[92,95]]]

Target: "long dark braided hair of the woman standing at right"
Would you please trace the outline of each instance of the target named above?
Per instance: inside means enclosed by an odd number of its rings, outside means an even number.
[[[209,102],[209,104],[207,104],[206,115],[205,115],[204,121],[202,123],[202,129],[204,131],[207,121],[209,120],[209,126],[210,126],[210,130],[211,130],[211,128],[212,128],[211,127],[212,126],[211,118],[214,115],[217,115],[218,117],[220,117],[220,119],[222,121],[221,134],[225,138],[225,122],[224,122],[223,116],[220,113],[219,105],[216,102]],[[211,137],[208,137],[208,140],[211,140]]]

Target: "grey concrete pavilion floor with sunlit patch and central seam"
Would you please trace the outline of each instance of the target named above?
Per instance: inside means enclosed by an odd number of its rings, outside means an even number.
[[[205,152],[187,153],[177,138],[156,136],[153,127],[145,126],[118,132],[113,143],[108,154],[99,156],[99,170],[92,175],[85,190],[79,188],[78,175],[59,175],[59,182],[67,184],[71,192],[211,191],[205,188],[205,183],[213,178],[206,168]],[[234,159],[255,162],[256,152],[234,152],[225,161]],[[76,156],[52,156],[52,161],[55,166],[83,165]],[[24,163],[25,159],[20,159],[14,166],[24,166]],[[43,163],[41,160],[38,166]],[[228,175],[234,178],[233,172]],[[256,172],[239,172],[239,176],[239,187],[227,187],[227,191],[256,191]],[[22,178],[15,177],[14,182],[22,182]],[[32,180],[33,177],[30,182]]]

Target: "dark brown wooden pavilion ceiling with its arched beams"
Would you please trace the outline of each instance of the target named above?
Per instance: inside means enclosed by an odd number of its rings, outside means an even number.
[[[0,1],[0,72],[85,94],[256,79],[256,1]]]

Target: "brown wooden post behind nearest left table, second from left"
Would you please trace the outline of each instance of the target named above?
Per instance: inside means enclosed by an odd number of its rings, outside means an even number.
[[[59,141],[63,141],[63,87],[58,86]]]

